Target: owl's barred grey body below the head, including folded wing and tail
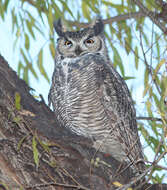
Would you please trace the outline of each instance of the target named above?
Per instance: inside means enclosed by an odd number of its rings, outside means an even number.
[[[58,61],[50,94],[64,125],[81,135],[93,136],[95,148],[119,161],[143,159],[127,85],[101,55]]]

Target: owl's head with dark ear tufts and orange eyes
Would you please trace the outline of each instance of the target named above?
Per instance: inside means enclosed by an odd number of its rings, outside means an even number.
[[[54,23],[54,28],[59,36],[57,49],[63,57],[74,58],[88,53],[106,54],[104,24],[100,18],[80,31],[63,31],[60,19]]]

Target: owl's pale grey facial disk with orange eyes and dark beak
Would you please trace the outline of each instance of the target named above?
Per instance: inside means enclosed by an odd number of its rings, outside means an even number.
[[[85,35],[81,38],[71,36],[58,39],[58,50],[64,57],[78,57],[88,53],[100,51],[101,38],[98,36]]]

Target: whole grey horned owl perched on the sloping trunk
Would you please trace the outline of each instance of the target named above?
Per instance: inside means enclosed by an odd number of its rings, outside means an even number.
[[[63,125],[75,133],[93,137],[94,147],[127,162],[138,171],[143,159],[136,112],[126,83],[110,63],[104,24],[59,36],[49,104]]]

